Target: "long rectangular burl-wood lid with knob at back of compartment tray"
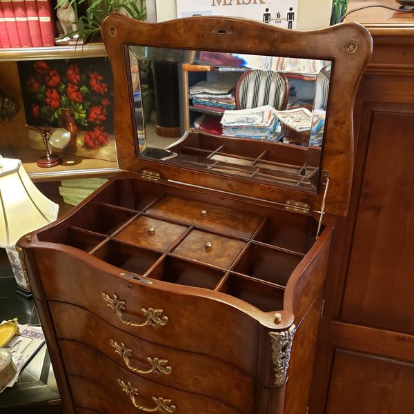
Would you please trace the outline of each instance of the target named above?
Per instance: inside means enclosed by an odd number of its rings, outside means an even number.
[[[235,237],[250,238],[264,217],[193,199],[165,195],[146,213]]]

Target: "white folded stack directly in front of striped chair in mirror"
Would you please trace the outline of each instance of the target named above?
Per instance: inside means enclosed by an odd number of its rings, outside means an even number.
[[[275,108],[269,105],[258,108],[226,110],[221,118],[223,135],[275,139],[277,117]]]

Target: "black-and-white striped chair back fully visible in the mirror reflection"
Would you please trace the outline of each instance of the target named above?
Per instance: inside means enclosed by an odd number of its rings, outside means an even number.
[[[237,109],[270,105],[277,110],[286,109],[289,84],[283,73],[274,70],[246,70],[236,86]]]

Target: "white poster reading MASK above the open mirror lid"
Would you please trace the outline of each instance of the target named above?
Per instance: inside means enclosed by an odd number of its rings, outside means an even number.
[[[177,0],[177,17],[244,17],[296,29],[297,0]]]

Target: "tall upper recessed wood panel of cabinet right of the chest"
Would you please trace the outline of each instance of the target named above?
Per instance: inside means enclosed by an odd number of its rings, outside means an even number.
[[[342,318],[414,332],[414,115],[374,112]]]

